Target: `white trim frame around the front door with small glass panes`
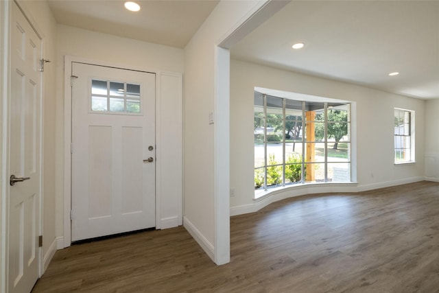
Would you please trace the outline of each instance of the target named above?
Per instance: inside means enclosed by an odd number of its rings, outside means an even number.
[[[168,228],[166,222],[162,218],[161,207],[162,207],[162,172],[163,167],[161,160],[161,76],[171,75],[182,79],[180,73],[171,73],[165,71],[158,71],[157,69],[148,69],[144,67],[134,67],[130,65],[120,65],[110,62],[104,62],[99,60],[91,60],[86,58],[80,58],[76,56],[64,56],[64,237],[59,239],[58,249],[66,248],[71,246],[71,130],[72,130],[72,107],[71,107],[71,67],[72,62],[82,62],[90,65],[105,66],[105,67],[115,67],[119,69],[134,70],[134,71],[145,71],[149,73],[156,74],[156,229]],[[182,103],[182,99],[180,99]],[[182,104],[178,105],[182,112]],[[182,121],[182,120],[181,120]],[[178,198],[178,219],[175,219],[178,225],[182,224],[182,196]],[[175,223],[175,222],[174,222]],[[172,226],[172,225],[170,225]]]

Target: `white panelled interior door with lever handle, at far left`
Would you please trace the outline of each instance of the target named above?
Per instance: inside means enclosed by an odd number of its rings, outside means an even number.
[[[12,4],[8,292],[30,292],[39,275],[40,39]]]

